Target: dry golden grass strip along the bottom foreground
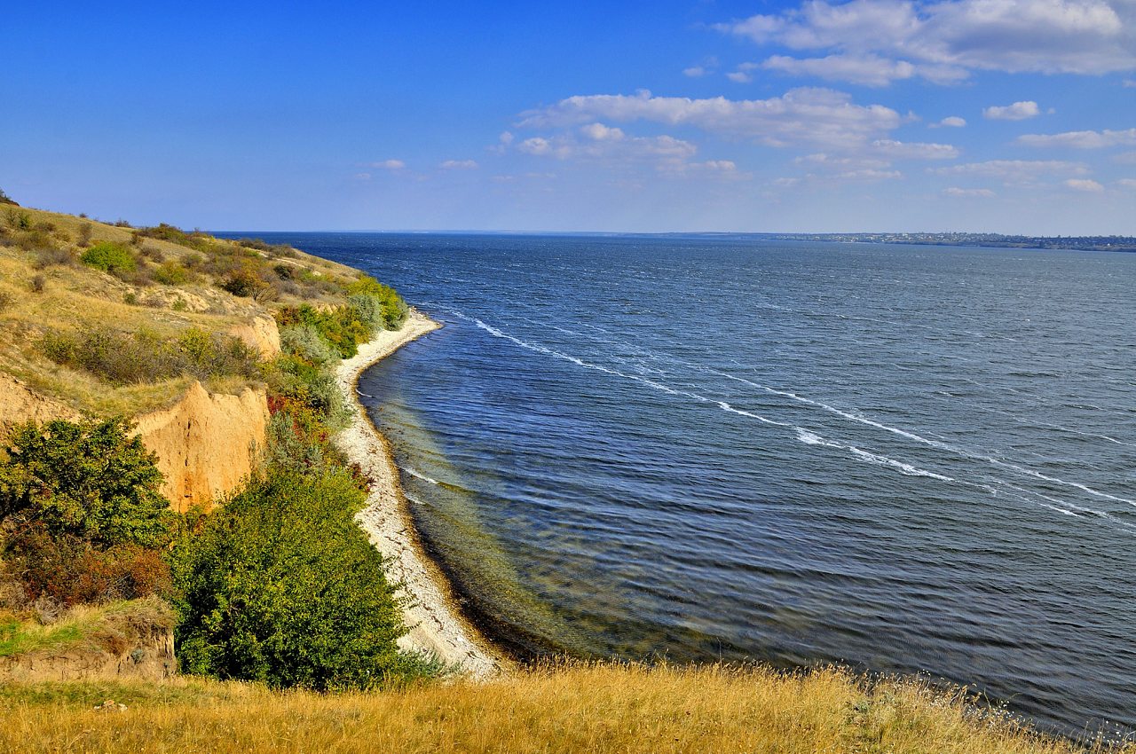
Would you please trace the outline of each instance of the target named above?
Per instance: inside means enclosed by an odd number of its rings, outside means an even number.
[[[125,712],[94,711],[105,698]],[[918,680],[610,664],[375,694],[166,685],[0,688],[0,751],[1066,754]],[[1133,754],[1128,747],[1125,754]]]

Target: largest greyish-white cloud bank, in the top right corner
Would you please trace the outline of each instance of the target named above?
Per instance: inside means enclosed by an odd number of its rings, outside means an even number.
[[[951,83],[976,69],[1136,70],[1131,0],[808,0],[717,28],[759,44],[824,53],[778,58],[774,65],[786,73],[869,85],[917,75]],[[866,77],[866,60],[884,62]]]

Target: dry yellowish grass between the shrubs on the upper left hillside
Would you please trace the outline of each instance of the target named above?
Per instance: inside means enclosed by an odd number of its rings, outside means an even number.
[[[0,207],[0,225],[7,225],[8,211],[9,208]],[[26,212],[33,223],[53,224],[57,229],[51,234],[52,241],[70,250],[75,257],[82,252],[76,240],[84,225],[90,225],[93,243],[112,241],[128,244],[131,241],[131,228],[28,208],[11,208],[10,211]],[[5,229],[9,242],[19,235],[10,228]],[[236,248],[233,242],[217,243]],[[158,238],[147,238],[144,245],[157,249],[168,260],[182,261],[198,253]],[[43,358],[35,344],[44,332],[109,326],[128,332],[144,327],[162,336],[175,335],[190,327],[225,333],[253,316],[268,313],[276,305],[304,301],[321,305],[343,301],[342,295],[324,293],[311,300],[284,296],[277,302],[260,304],[252,299],[231,295],[210,279],[179,286],[139,286],[82,263],[36,269],[34,251],[0,245],[0,295],[8,294],[11,301],[0,308],[0,372],[18,377],[36,392],[58,399],[76,410],[98,414],[134,416],[161,408],[176,401],[190,380],[177,378],[148,385],[108,386],[90,374],[60,367]],[[348,279],[358,275],[351,268],[302,252],[291,252],[287,258],[272,261],[311,270],[327,279]],[[44,278],[41,293],[32,292],[32,280],[36,275]],[[125,302],[127,294],[134,294],[139,301],[151,300],[154,305],[128,304]],[[173,308],[178,300],[184,302],[184,310]],[[236,392],[243,384],[228,380],[209,387]]]

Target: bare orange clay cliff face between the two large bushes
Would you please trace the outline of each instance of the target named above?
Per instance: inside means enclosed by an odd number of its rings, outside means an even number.
[[[175,405],[137,418],[137,433],[158,454],[166,477],[162,494],[175,510],[206,510],[249,476],[265,447],[265,391],[210,395],[194,383]]]

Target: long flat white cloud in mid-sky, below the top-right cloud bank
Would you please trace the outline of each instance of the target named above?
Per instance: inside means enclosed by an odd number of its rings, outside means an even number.
[[[843,92],[794,89],[768,100],[652,97],[646,91],[635,95],[577,95],[521,114],[519,125],[528,128],[566,127],[600,119],[693,126],[770,146],[817,144],[845,148],[863,145],[902,122],[895,110],[882,104],[855,104]]]

